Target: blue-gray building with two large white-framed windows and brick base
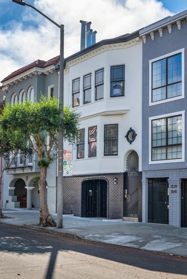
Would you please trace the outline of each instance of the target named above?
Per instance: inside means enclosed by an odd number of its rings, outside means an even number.
[[[142,221],[187,227],[187,11],[140,30]]]

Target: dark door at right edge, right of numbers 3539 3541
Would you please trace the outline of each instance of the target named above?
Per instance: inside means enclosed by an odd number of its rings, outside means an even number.
[[[181,227],[187,227],[187,179],[181,182]]]

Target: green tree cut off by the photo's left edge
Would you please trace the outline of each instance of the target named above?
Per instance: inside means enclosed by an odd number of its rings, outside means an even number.
[[[20,129],[17,129],[12,130],[11,133],[7,134],[0,126],[0,157],[3,157],[4,160],[6,160],[6,165],[1,168],[0,182],[3,177],[3,172],[12,165],[12,162],[14,161],[20,150],[22,150],[22,154],[28,154],[29,152],[28,139],[22,133],[22,131]],[[7,218],[2,212],[1,203],[0,218]]]

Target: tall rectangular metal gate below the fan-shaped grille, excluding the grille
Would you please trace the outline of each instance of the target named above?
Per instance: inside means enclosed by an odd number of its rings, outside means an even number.
[[[138,217],[138,172],[124,174],[123,216]]]

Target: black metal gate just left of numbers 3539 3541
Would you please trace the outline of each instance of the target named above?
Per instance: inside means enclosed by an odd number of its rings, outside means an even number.
[[[148,222],[169,223],[169,196],[167,178],[148,179]]]

